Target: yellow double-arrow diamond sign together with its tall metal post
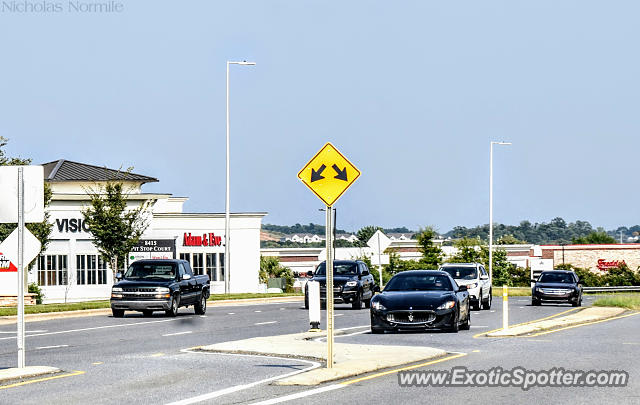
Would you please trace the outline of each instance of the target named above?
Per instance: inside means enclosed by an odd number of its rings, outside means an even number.
[[[360,171],[327,142],[298,173],[298,178],[327,206],[327,368],[333,368],[333,204],[347,191]]]

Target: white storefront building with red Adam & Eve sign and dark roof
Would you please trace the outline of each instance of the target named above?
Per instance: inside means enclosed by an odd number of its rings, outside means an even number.
[[[113,272],[100,256],[88,232],[82,210],[89,205],[87,190],[99,190],[107,181],[121,181],[128,206],[148,204],[148,228],[128,262],[143,258],[188,260],[195,273],[209,274],[212,293],[224,292],[225,215],[184,213],[186,197],[143,193],[153,177],[122,173],[67,160],[44,165],[45,181],[51,185],[47,208],[53,224],[51,242],[29,272],[45,294],[45,302],[107,299]],[[260,227],[266,213],[231,214],[230,290],[257,292],[260,267]]]

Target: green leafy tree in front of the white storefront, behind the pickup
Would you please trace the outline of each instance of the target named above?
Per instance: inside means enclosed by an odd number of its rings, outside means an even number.
[[[118,266],[125,263],[125,258],[149,226],[144,218],[148,203],[127,208],[128,194],[124,184],[118,181],[108,181],[104,186],[86,191],[91,205],[82,214],[93,235],[93,244],[111,264],[115,280]]]

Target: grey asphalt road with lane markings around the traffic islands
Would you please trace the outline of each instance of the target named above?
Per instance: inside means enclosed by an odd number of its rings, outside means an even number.
[[[591,297],[586,297],[588,299]],[[206,316],[181,309],[176,318],[157,313],[151,318],[131,313],[124,319],[110,316],[62,318],[27,324],[27,364],[65,370],[63,378],[30,382],[3,388],[0,403],[171,403],[209,394],[203,403],[252,403],[278,400],[286,395],[307,395],[318,387],[281,387],[270,380],[314,365],[297,359],[207,354],[189,348],[255,336],[303,332],[308,315],[302,302],[210,307]],[[622,403],[640,403],[634,384],[640,370],[635,357],[640,352],[640,316],[584,326],[540,338],[474,338],[502,325],[502,302],[490,311],[472,313],[472,329],[458,334],[368,333],[368,310],[338,306],[336,328],[351,328],[336,341],[360,344],[422,345],[442,348],[463,357],[428,366],[447,369],[465,365],[471,369],[494,366],[545,369],[617,368],[631,374],[626,388],[401,388],[396,373],[358,383],[320,386],[330,389],[294,402],[370,403],[406,401],[434,403],[468,401],[512,403],[540,400],[571,400],[596,403],[611,398]],[[569,306],[531,307],[528,297],[512,297],[512,323],[546,317],[571,309]],[[129,314],[129,313],[128,313]],[[324,325],[323,325],[324,328]],[[15,367],[15,327],[0,326],[0,367]]]

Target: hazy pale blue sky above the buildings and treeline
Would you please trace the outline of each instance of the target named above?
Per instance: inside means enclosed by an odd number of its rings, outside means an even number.
[[[323,223],[296,175],[330,141],[362,172],[339,228],[488,223],[507,140],[495,222],[640,223],[636,1],[72,3],[0,3],[11,156],[133,166],[160,180],[144,191],[224,212],[225,62],[246,59],[233,212]]]

